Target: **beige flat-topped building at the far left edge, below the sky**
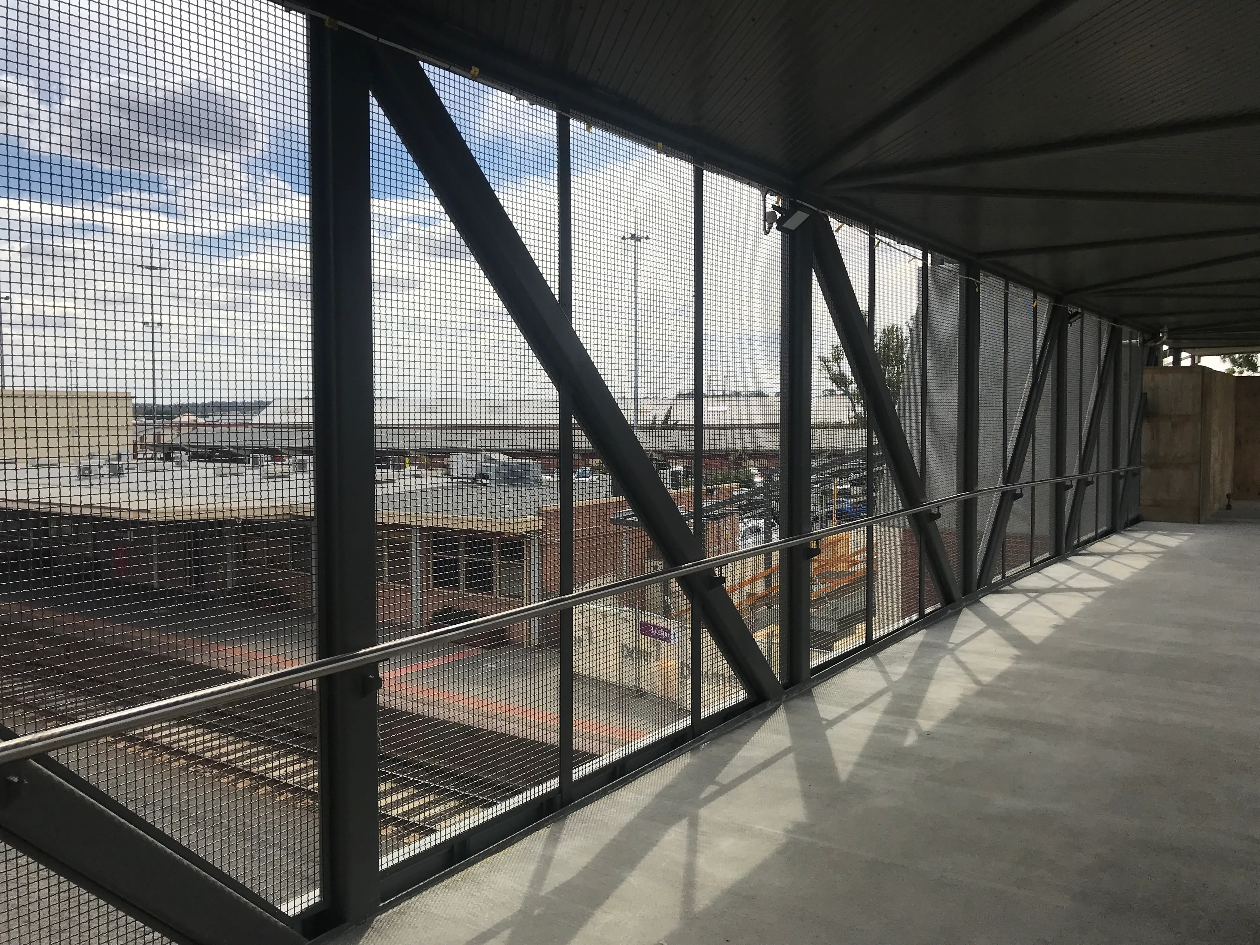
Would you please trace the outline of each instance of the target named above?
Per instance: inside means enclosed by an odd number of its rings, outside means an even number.
[[[79,462],[131,454],[131,394],[0,391],[0,460]]]

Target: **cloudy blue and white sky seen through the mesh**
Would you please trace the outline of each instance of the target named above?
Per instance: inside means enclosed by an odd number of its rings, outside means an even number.
[[[5,383],[137,401],[310,391],[304,24],[266,0],[10,0],[0,32]],[[554,116],[431,71],[556,284]],[[692,169],[573,125],[575,321],[619,398],[692,387]],[[382,397],[551,388],[383,116],[373,122]],[[761,194],[706,175],[706,365],[779,389],[779,236]],[[859,297],[867,237],[838,234]],[[910,255],[907,255],[907,252]],[[915,310],[917,252],[876,253],[879,323]],[[834,343],[815,300],[815,349]],[[147,323],[147,324],[146,324]],[[815,370],[815,387],[824,383]]]

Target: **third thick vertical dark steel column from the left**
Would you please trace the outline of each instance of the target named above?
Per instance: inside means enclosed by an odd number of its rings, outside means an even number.
[[[980,488],[980,267],[966,263],[959,280],[958,491]],[[959,503],[959,578],[963,593],[975,590],[979,499]]]

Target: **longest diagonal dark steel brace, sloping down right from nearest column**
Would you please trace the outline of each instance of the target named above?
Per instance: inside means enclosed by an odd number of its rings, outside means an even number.
[[[616,476],[626,501],[665,563],[670,567],[692,563],[696,561],[696,537],[687,520],[564,318],[420,62],[381,44],[369,48],[372,91],[377,102],[538,363],[557,388],[573,393],[575,417]],[[682,578],[680,583],[752,698],[764,701],[780,696],[782,685],[723,588],[722,578],[716,572],[707,572]]]

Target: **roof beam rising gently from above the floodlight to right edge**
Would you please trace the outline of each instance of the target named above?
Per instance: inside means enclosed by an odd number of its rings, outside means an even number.
[[[995,147],[989,151],[958,154],[921,161],[907,161],[905,164],[857,168],[854,170],[837,174],[825,183],[828,186],[861,186],[864,184],[896,180],[897,178],[910,178],[916,174],[931,174],[940,170],[973,168],[978,164],[997,164],[1000,161],[1018,161],[1034,158],[1047,158],[1058,154],[1072,154],[1075,151],[1121,147],[1124,145],[1140,144],[1143,141],[1158,141],[1169,137],[1181,137],[1183,135],[1205,135],[1212,131],[1230,131],[1234,129],[1255,127],[1257,125],[1260,125],[1260,113],[1256,112],[1222,115],[1211,118],[1172,122],[1168,125],[1152,125],[1149,127],[1131,129],[1129,131],[1114,131],[1105,135],[1081,135],[1079,137],[1066,137],[1058,141],[1041,141],[1037,144],[1018,145],[1014,147]]]

